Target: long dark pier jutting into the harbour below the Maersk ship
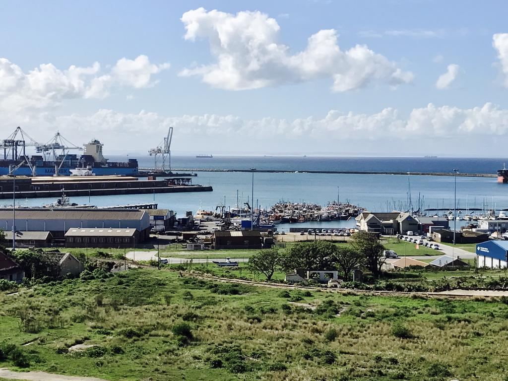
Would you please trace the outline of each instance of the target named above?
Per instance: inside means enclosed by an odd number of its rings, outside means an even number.
[[[209,192],[211,186],[194,185],[192,179],[171,177],[140,180],[132,176],[0,176],[0,199],[13,197],[59,197],[62,189],[67,196],[135,195],[146,193]]]

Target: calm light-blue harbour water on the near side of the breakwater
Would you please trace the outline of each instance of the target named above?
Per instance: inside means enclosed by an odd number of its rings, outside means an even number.
[[[496,178],[457,177],[458,209],[508,208],[508,184],[499,184]],[[172,209],[178,215],[202,208],[214,210],[224,204],[235,207],[250,202],[252,177],[245,172],[198,172],[194,183],[212,185],[213,192],[174,193],[155,195],[119,195],[72,197],[71,202],[91,203],[97,206],[141,202],[156,202],[160,208]],[[370,211],[404,209],[409,204],[424,208],[453,208],[453,176],[407,176],[372,174],[310,174],[310,173],[255,173],[254,200],[262,207],[278,201],[312,202],[326,205],[337,200],[350,201]],[[337,195],[338,194],[338,195]],[[37,206],[54,199],[18,199],[20,205]],[[9,200],[0,200],[9,204]],[[433,212],[431,212],[433,213]],[[338,227],[334,221],[334,226]]]

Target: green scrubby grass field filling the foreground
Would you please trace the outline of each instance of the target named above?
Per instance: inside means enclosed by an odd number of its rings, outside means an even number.
[[[138,269],[0,294],[0,341],[21,348],[27,369],[110,380],[502,381],[504,302],[288,292]],[[78,343],[96,346],[68,352]]]

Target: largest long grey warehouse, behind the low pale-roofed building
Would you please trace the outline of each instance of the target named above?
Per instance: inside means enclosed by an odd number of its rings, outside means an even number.
[[[63,239],[70,228],[136,229],[143,241],[150,234],[150,219],[148,213],[138,209],[16,209],[17,231],[50,232],[53,239]],[[12,231],[12,209],[0,208],[0,229]]]

